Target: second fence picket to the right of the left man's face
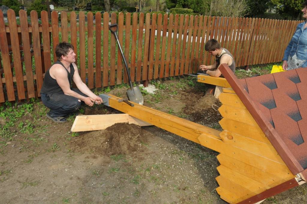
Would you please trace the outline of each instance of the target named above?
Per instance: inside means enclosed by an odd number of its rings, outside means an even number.
[[[94,88],[94,25],[93,13],[87,13],[87,80],[88,88]]]

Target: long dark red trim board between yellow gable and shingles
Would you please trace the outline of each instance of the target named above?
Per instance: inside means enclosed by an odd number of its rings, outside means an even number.
[[[227,66],[227,64],[220,65],[219,69],[230,84],[231,88],[239,96],[247,110],[250,112],[251,116],[253,116],[263,133],[270,140],[271,144],[276,149],[282,160],[286,163],[292,174],[296,175],[303,171],[304,169],[301,164],[294,157],[286,143],[280,138],[279,134],[275,131],[270,122],[266,119],[262,112],[258,110],[254,100],[240,85],[239,80]]]

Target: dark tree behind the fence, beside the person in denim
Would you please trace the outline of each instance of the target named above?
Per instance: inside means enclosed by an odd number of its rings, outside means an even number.
[[[271,0],[278,14],[287,18],[301,19],[302,18],[302,1],[293,0]]]

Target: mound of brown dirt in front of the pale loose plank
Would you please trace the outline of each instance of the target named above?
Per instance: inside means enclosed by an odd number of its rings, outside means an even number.
[[[140,126],[117,123],[105,130],[89,131],[78,136],[72,143],[73,151],[99,155],[130,154],[142,149],[149,132]]]

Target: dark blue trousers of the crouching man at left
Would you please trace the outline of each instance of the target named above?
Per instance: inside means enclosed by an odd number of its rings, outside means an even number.
[[[87,97],[77,88],[72,88],[73,91],[82,96]],[[74,96],[68,96],[64,93],[41,93],[41,100],[43,104],[50,109],[49,114],[51,117],[67,116],[68,114],[77,111],[83,101],[79,101]]]

